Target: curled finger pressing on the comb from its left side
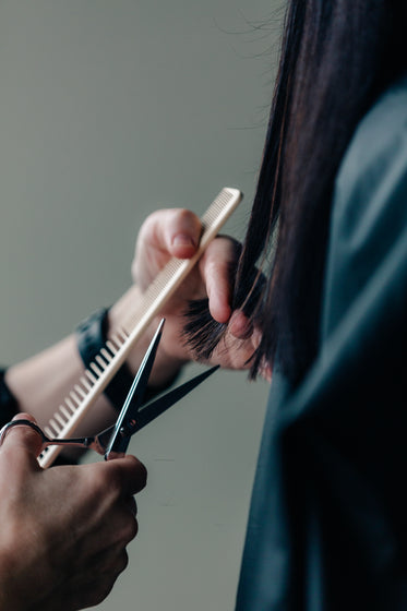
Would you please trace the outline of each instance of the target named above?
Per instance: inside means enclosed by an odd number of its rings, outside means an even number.
[[[183,208],[157,211],[143,226],[143,239],[148,245],[179,259],[189,259],[195,253],[201,232],[200,218]]]

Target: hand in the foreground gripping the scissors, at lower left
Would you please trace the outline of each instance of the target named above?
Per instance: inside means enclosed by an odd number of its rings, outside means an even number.
[[[137,532],[133,495],[146,470],[136,458],[43,470],[39,450],[28,427],[11,429],[0,447],[1,611],[98,604]]]

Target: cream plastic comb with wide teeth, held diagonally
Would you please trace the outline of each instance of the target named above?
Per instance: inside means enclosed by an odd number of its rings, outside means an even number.
[[[132,347],[195,265],[241,199],[242,194],[237,189],[225,188],[220,191],[201,218],[203,231],[194,256],[184,260],[171,259],[156,276],[144,292],[136,311],[129,316],[130,333],[122,328],[106,343],[95,361],[58,407],[48,426],[44,428],[47,435],[58,438],[72,435],[85,414],[124,363]],[[40,466],[49,467],[60,451],[61,447],[57,445],[47,447],[38,457]]]

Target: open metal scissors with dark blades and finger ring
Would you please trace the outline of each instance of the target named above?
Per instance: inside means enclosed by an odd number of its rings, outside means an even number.
[[[5,424],[0,431],[0,446],[4,441],[5,435],[10,429],[14,427],[31,427],[36,431],[43,441],[43,452],[48,445],[64,445],[64,446],[79,446],[94,450],[105,457],[105,460],[119,458],[125,455],[130,440],[134,433],[143,429],[146,424],[152,422],[155,418],[160,416],[169,407],[178,403],[181,398],[188,395],[201,382],[206,380],[214,373],[219,366],[215,366],[195,378],[192,378],[184,384],[168,392],[158,399],[143,406],[143,398],[147,387],[148,378],[153,369],[155,356],[157,352],[158,344],[163,335],[163,326],[165,319],[161,319],[158,328],[144,355],[143,361],[139,368],[137,373],[133,380],[129,394],[124,400],[123,407],[120,410],[118,419],[112,427],[105,429],[94,436],[87,438],[72,438],[72,439],[50,439],[43,429],[31,420],[12,420]]]

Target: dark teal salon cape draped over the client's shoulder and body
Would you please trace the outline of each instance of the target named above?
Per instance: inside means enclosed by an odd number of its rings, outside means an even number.
[[[272,383],[237,611],[407,611],[407,77],[337,176],[321,350]]]

